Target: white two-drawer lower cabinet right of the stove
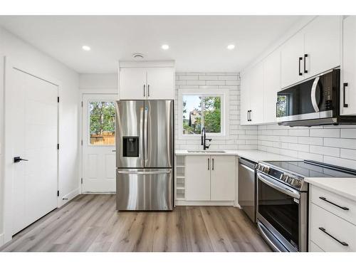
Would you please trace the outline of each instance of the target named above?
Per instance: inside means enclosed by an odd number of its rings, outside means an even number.
[[[309,251],[355,252],[356,225],[350,218],[355,203],[311,186],[309,206]],[[355,202],[355,201],[354,201]],[[340,211],[338,211],[340,209]]]

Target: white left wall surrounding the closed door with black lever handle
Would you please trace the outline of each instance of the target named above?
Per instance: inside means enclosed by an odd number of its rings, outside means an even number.
[[[78,142],[78,73],[71,70],[62,63],[38,51],[33,46],[17,38],[13,34],[0,27],[0,56],[7,56],[11,61],[20,62],[26,68],[43,73],[46,77],[53,77],[61,83],[59,90],[59,142],[61,145],[59,153],[59,190],[60,199],[67,194],[73,196],[78,193],[78,164],[79,164],[79,142]],[[3,66],[1,58],[1,67]],[[4,72],[0,67],[0,142],[1,142],[1,164],[4,153]],[[0,166],[1,167],[1,166]],[[1,167],[1,184],[4,181],[3,168]],[[1,194],[1,220],[0,233],[3,232],[3,197]]]

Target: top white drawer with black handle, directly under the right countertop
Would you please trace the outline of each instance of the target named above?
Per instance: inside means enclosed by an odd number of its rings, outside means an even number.
[[[311,201],[356,225],[356,202],[320,187],[311,186]]]

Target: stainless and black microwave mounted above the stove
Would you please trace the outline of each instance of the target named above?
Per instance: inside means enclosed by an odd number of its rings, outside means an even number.
[[[356,124],[356,116],[340,115],[340,69],[280,90],[276,112],[278,125]]]

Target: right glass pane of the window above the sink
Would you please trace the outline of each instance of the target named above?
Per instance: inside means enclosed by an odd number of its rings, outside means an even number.
[[[221,98],[209,96],[203,98],[203,125],[206,132],[221,132]]]

